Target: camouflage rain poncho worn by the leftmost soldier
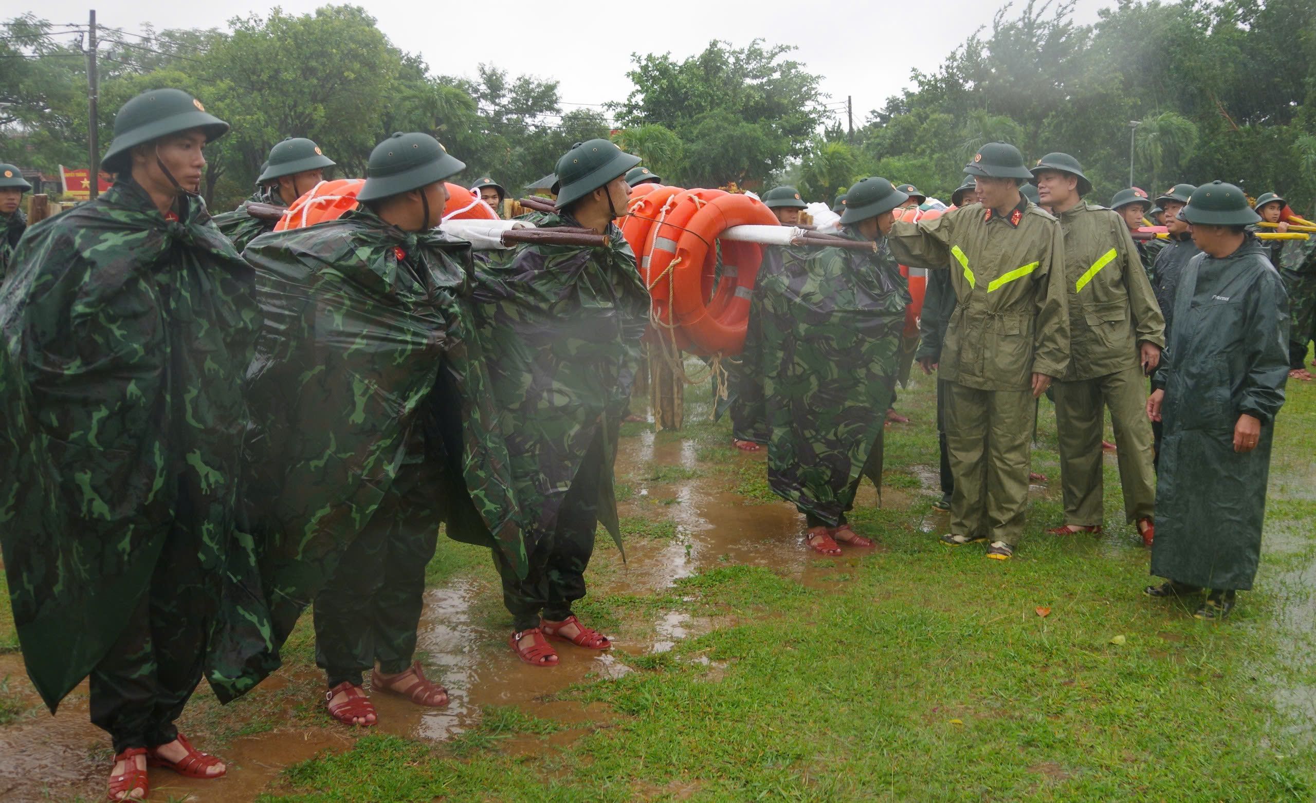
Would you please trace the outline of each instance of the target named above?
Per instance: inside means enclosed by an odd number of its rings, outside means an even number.
[[[42,221],[0,300],[12,357],[0,417],[12,427],[30,413],[37,447],[7,472],[22,493],[0,510],[5,570],[51,710],[118,637],[166,536],[191,530],[216,608],[240,551],[242,375],[259,311],[250,268],[200,198],[186,206],[166,221],[129,180]]]

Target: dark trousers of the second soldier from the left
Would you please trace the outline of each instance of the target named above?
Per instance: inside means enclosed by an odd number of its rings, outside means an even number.
[[[411,666],[425,566],[438,543],[441,470],[432,461],[404,464],[316,595],[316,665],[329,687],[359,686],[376,661],[384,674]]]

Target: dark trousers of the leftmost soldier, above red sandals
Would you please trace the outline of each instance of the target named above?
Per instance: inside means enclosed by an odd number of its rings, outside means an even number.
[[[178,739],[174,720],[201,681],[220,573],[203,569],[192,527],[175,523],[151,585],[91,670],[91,722],[114,753]]]

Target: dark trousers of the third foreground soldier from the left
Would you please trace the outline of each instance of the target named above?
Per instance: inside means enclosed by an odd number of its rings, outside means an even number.
[[[599,482],[604,470],[612,470],[603,461],[603,438],[600,431],[586,449],[558,509],[555,527],[530,548],[525,580],[519,580],[503,553],[494,551],[503,578],[503,603],[517,631],[538,627],[541,614],[550,622],[562,622],[571,615],[571,603],[584,597],[584,570],[599,528]]]

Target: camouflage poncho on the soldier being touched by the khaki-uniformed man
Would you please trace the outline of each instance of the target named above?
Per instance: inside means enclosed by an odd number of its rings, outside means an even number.
[[[845,237],[861,239],[846,229]],[[830,526],[878,448],[909,304],[886,242],[876,254],[784,248],[759,269],[745,342],[750,400],[770,430],[772,490]],[[880,468],[878,469],[880,472]]]

